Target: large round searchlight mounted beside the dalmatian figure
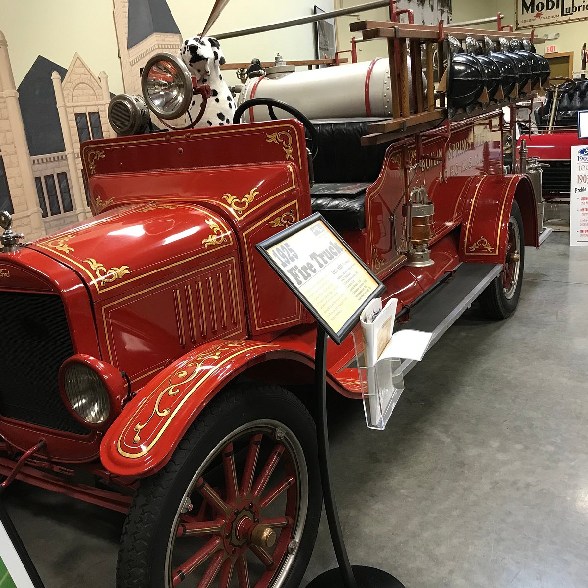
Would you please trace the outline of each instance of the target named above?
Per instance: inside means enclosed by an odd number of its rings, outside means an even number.
[[[149,109],[159,118],[171,121],[185,115],[190,108],[192,74],[179,57],[160,53],[143,68],[141,89]]]

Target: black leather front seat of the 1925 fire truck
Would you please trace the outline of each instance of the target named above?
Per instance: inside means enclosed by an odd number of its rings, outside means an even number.
[[[368,125],[379,118],[312,121],[319,135],[313,162],[312,212],[320,212],[336,230],[365,228],[365,195],[382,171],[386,145],[364,147]]]

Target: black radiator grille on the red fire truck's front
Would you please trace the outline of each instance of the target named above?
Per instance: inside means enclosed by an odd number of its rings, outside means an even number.
[[[74,355],[64,305],[59,296],[0,292],[0,414],[48,427],[87,435],[59,395],[61,364]]]

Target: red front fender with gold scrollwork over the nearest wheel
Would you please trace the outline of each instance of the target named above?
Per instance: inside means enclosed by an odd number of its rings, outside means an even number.
[[[272,343],[249,340],[214,340],[193,349],[143,386],[112,423],[100,449],[103,465],[120,476],[155,473],[230,380],[256,363],[296,355]]]

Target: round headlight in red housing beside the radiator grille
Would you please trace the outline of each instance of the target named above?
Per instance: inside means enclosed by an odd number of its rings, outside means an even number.
[[[116,368],[89,355],[67,359],[59,370],[59,389],[69,412],[91,429],[108,426],[119,415],[125,383]]]

